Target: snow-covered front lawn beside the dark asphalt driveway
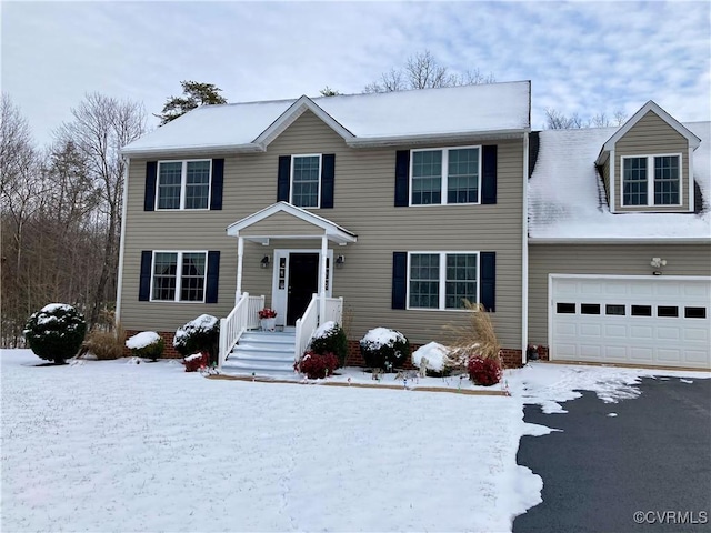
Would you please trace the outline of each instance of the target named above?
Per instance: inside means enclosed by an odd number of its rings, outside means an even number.
[[[652,375],[532,364],[507,371],[511,395],[482,396],[134,361],[37,368],[29,351],[0,351],[2,531],[511,531],[542,487],[515,464],[519,439],[549,431],[523,422],[523,403],[561,410],[577,389],[634,398]],[[334,380],[348,378],[369,381],[356,369]]]

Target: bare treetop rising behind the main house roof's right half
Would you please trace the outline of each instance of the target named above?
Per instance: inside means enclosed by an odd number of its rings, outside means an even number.
[[[473,86],[493,83],[494,81],[493,74],[483,76],[479,69],[467,71],[463,74],[451,72],[447,67],[440,64],[429,50],[424,50],[410,56],[403,68],[392,68],[380,74],[380,79],[367,84],[363,92]]]

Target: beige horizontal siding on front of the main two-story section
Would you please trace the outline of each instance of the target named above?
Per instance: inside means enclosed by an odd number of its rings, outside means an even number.
[[[350,338],[360,339],[369,329],[388,326],[402,331],[412,342],[424,343],[442,340],[444,324],[464,323],[465,313],[458,311],[391,309],[393,251],[495,251],[494,325],[502,345],[518,349],[521,346],[523,141],[497,143],[495,205],[394,208],[397,149],[351,149],[309,111],[281,133],[266,153],[226,158],[222,211],[144,212],[146,161],[132,160],[121,313],[124,326],[172,329],[200,312],[227,315],[234,303],[237,239],[228,238],[226,228],[277,201],[279,155],[334,153],[334,208],[309,211],[358,235],[358,242],[347,247],[329,243],[334,257],[346,257],[342,268],[332,269],[332,294],[344,299]],[[435,143],[431,148],[441,145]],[[304,230],[301,221],[294,223],[294,219],[287,220],[286,215],[279,215],[274,221],[278,223],[272,227],[270,219],[264,220],[260,228],[253,227],[248,232],[257,234],[269,229],[283,234],[283,229],[299,233]],[[311,232],[321,233],[318,228]],[[190,306],[138,302],[140,251],[164,249],[168,243],[179,249],[197,245],[204,250],[221,250],[219,304]],[[278,248],[320,249],[320,240],[272,239],[268,247],[246,244],[242,290],[264,294],[268,304],[272,268],[260,269],[259,262],[264,254],[271,257]]]

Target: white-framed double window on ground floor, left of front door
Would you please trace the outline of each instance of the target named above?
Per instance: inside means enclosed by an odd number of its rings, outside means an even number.
[[[154,252],[151,300],[204,302],[207,252]]]

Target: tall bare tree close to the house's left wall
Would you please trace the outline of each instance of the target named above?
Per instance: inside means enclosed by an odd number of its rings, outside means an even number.
[[[71,110],[73,120],[57,132],[61,142],[71,142],[83,158],[87,177],[100,191],[99,220],[103,232],[101,268],[89,299],[90,325],[97,324],[106,303],[116,290],[121,203],[126,162],[120,149],[146,131],[146,111],[136,102],[119,101],[99,93],[87,94]]]

